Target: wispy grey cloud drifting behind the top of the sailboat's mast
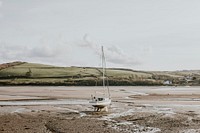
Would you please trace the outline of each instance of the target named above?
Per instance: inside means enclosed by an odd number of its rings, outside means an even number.
[[[86,34],[83,37],[83,43],[79,44],[81,47],[86,47],[92,49],[96,54],[100,54],[100,46],[92,41],[89,36]],[[130,56],[123,52],[123,50],[118,47],[111,45],[110,47],[104,47],[106,60],[113,64],[119,65],[139,65],[141,62],[136,59],[136,57]]]

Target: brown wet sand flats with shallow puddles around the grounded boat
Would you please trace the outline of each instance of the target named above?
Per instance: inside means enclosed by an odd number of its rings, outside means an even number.
[[[88,100],[101,87],[0,87],[0,133],[198,133],[200,87],[110,87],[108,112]]]

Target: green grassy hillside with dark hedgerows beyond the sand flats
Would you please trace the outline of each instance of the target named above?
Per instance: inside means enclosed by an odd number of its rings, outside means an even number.
[[[110,85],[200,85],[200,71],[108,68]],[[14,62],[0,65],[0,85],[102,85],[102,69]]]

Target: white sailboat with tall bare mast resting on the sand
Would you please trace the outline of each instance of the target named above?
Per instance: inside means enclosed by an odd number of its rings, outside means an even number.
[[[101,59],[102,59],[102,84],[103,84],[103,95],[97,95],[95,92],[95,95],[91,95],[91,100],[89,101],[90,104],[94,107],[95,111],[101,111],[101,109],[105,108],[105,110],[108,110],[108,106],[111,104],[111,97],[110,97],[110,90],[108,87],[108,78],[105,77],[106,75],[106,60],[104,55],[103,46],[101,47]],[[106,79],[106,80],[105,80]],[[106,94],[107,90],[107,94]]]

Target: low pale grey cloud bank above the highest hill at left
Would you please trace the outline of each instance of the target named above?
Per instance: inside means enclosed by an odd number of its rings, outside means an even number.
[[[66,60],[68,45],[62,40],[41,39],[35,46],[25,46],[0,42],[0,60],[1,61],[28,61],[62,64]],[[57,42],[57,43],[56,43]],[[64,64],[64,63],[63,63]]]

